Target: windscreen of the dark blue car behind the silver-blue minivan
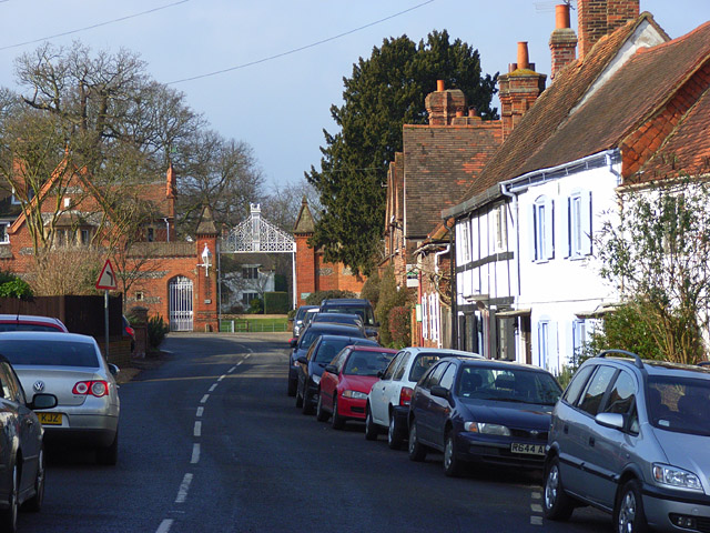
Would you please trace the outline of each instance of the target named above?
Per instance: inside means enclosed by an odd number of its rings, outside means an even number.
[[[525,369],[465,365],[458,380],[460,398],[555,405],[561,394],[555,378]]]

